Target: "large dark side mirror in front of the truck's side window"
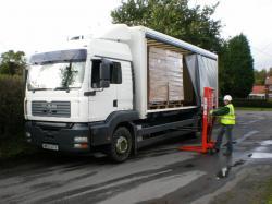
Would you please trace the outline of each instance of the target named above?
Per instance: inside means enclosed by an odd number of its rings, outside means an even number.
[[[99,86],[101,88],[110,87],[110,76],[111,76],[111,64],[112,62],[103,59],[99,68]]]

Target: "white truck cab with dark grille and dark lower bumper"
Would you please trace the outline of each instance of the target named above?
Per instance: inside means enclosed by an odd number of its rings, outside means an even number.
[[[94,39],[87,47],[32,56],[25,96],[29,142],[42,148],[88,152],[88,123],[132,109],[127,45]]]

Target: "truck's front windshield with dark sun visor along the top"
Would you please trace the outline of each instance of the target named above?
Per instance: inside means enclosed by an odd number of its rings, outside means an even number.
[[[81,88],[86,55],[81,50],[39,53],[30,59],[27,88],[29,91]],[[85,59],[84,59],[85,58]]]

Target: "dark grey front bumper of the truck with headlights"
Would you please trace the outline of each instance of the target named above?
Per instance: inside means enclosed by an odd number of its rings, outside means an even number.
[[[87,123],[27,121],[25,131],[27,142],[40,148],[54,146],[58,147],[59,152],[90,152],[90,135]],[[87,142],[76,142],[76,136],[87,137]]]

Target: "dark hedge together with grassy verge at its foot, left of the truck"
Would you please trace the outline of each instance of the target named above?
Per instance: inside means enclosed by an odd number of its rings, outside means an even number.
[[[0,168],[1,161],[34,152],[24,136],[23,77],[0,74]]]

